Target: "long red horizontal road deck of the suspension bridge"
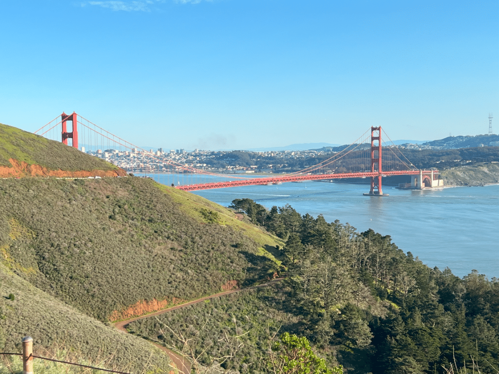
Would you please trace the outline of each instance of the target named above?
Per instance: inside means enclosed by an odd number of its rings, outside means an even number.
[[[434,170],[434,174],[438,171]],[[412,176],[418,175],[419,170],[402,170],[402,171],[390,171],[382,172],[382,177],[389,176]],[[431,171],[424,170],[423,175],[431,174]],[[283,175],[282,177],[269,177],[269,178],[251,178],[239,181],[226,181],[226,182],[212,182],[203,183],[199,185],[183,185],[175,186],[175,188],[182,189],[184,191],[197,191],[200,189],[212,189],[212,188],[225,188],[225,187],[241,187],[241,186],[254,186],[254,185],[269,185],[278,184],[286,182],[301,182],[301,181],[320,181],[324,179],[340,179],[340,178],[367,178],[367,177],[378,177],[379,172],[363,172],[363,173],[342,173],[342,174],[301,174],[301,175]]]

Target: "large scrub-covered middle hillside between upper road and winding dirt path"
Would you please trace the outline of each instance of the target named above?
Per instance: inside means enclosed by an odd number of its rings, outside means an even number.
[[[276,268],[265,250],[275,237],[150,179],[1,180],[0,196],[5,266],[101,321],[144,300],[194,299]]]

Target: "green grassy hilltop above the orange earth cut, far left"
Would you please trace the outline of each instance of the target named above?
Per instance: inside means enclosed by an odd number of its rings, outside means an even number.
[[[0,165],[11,167],[9,159],[49,170],[118,170],[76,148],[0,123]]]

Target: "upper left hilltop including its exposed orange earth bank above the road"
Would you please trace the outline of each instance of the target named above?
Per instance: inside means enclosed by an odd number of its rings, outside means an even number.
[[[0,124],[0,178],[125,175],[124,170],[76,148]]]

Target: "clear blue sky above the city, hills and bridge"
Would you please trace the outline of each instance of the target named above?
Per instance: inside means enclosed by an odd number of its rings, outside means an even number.
[[[499,2],[0,0],[0,122],[139,146],[499,133]]]

